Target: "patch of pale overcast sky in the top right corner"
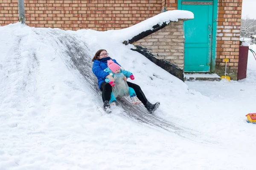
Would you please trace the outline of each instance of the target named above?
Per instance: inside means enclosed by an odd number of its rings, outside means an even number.
[[[246,16],[256,19],[256,0],[243,0],[242,18]]]

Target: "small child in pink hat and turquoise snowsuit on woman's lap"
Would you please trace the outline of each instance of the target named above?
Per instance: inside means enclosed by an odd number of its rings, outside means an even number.
[[[141,101],[137,98],[134,89],[129,87],[126,83],[128,77],[131,78],[131,80],[134,80],[134,75],[131,72],[124,70],[112,60],[108,61],[108,67],[104,71],[108,72],[108,74],[115,78],[116,82],[115,84],[113,81],[105,78],[105,82],[109,83],[113,87],[111,92],[111,99],[109,101],[110,104],[116,103],[116,97],[122,97],[127,95],[130,95],[131,97],[131,104],[141,103]],[[121,81],[120,78],[122,79]]]

